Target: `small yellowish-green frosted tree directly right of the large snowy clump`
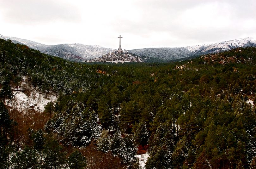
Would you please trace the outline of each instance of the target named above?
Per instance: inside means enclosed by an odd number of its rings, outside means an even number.
[[[98,146],[97,149],[107,153],[110,150],[110,143],[111,143],[111,140],[108,135],[108,131],[102,130],[101,136],[96,141],[96,144]]]

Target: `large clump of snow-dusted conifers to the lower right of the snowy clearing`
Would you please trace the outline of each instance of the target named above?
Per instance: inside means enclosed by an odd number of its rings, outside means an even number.
[[[53,129],[52,129],[53,128]],[[69,101],[63,112],[55,114],[45,127],[46,131],[58,133],[65,145],[87,145],[101,134],[95,111],[84,108],[82,103]]]

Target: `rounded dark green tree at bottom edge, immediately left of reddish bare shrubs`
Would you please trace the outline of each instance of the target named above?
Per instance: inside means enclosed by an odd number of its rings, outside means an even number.
[[[87,165],[85,157],[78,150],[70,154],[68,164],[70,169],[83,169]]]

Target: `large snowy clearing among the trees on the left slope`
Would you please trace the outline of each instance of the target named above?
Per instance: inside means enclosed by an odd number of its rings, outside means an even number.
[[[27,110],[36,110],[43,112],[44,107],[49,102],[55,102],[57,100],[57,94],[39,93],[37,90],[33,90],[28,97],[21,91],[13,91],[14,98],[8,103],[8,106],[14,110],[26,112]]]

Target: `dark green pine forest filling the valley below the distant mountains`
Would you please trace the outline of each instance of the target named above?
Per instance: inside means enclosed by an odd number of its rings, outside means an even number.
[[[139,168],[136,154],[147,152],[146,169],[253,168],[255,63],[248,47],[175,63],[78,64],[0,40],[0,166]],[[5,106],[24,76],[57,101],[44,112]]]

